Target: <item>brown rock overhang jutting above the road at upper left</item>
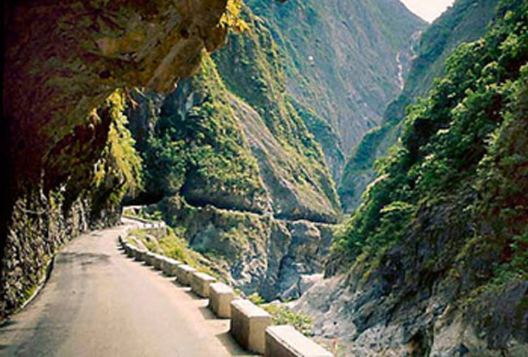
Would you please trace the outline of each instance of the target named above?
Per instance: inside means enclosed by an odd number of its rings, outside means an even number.
[[[3,115],[11,184],[39,180],[46,157],[118,87],[158,91],[222,44],[225,0],[8,1]],[[56,184],[53,173],[46,182]]]

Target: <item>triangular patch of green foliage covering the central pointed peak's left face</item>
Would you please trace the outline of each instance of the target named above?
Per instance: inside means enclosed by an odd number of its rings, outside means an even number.
[[[205,57],[200,73],[171,94],[142,152],[145,180],[152,189],[178,194],[186,182],[194,181],[210,192],[235,196],[263,192],[258,165],[246,149],[225,92],[215,64]],[[182,113],[176,102],[187,96],[192,105]]]

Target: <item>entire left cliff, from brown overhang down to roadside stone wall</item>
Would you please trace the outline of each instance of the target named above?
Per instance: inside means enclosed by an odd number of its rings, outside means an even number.
[[[120,116],[127,94],[115,90],[165,90],[193,73],[225,39],[225,8],[4,2],[0,315],[20,306],[61,242],[115,213],[137,168]]]

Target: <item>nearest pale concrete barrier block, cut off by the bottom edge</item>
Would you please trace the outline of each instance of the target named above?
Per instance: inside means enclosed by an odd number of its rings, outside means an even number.
[[[265,356],[269,357],[332,357],[293,326],[270,326],[265,331]]]

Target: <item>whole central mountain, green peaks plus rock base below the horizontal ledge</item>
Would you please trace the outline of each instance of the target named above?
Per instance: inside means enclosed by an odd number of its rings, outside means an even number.
[[[174,92],[132,92],[146,182],[135,201],[161,199],[165,220],[244,292],[298,297],[302,276],[322,272],[339,201],[277,45],[245,11],[250,30]]]

